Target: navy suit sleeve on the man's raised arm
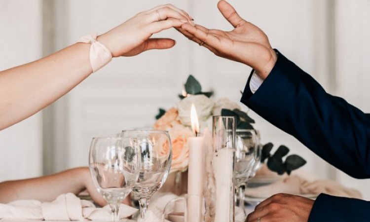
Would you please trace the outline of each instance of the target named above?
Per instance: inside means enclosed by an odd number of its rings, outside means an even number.
[[[320,84],[280,52],[271,73],[241,102],[355,178],[370,177],[370,117]]]

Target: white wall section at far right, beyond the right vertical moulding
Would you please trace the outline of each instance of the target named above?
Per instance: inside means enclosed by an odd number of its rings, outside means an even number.
[[[337,0],[335,12],[336,94],[369,113],[370,1]],[[344,185],[360,189],[370,200],[370,180],[356,180],[340,171],[337,178]]]

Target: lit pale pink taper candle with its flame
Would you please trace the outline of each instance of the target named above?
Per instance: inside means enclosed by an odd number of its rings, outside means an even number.
[[[204,138],[199,135],[199,121],[194,104],[191,104],[191,127],[195,137],[187,139],[189,166],[187,179],[187,221],[201,222],[203,201]]]

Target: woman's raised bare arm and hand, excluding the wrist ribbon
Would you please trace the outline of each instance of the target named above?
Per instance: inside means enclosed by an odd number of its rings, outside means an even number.
[[[175,45],[152,34],[191,22],[173,5],[140,12],[97,38],[113,57],[134,56],[149,49]],[[92,73],[90,44],[76,43],[65,49],[19,67],[0,72],[0,130],[42,110]]]

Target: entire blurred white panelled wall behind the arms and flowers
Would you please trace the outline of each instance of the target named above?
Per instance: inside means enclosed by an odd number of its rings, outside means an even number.
[[[328,92],[370,112],[369,0],[229,2]],[[85,34],[102,34],[137,12],[164,3],[186,10],[195,23],[232,28],[219,13],[217,0],[0,0],[0,70],[46,56]],[[177,45],[114,59],[53,105],[0,131],[0,181],[87,165],[92,137],[150,126],[158,108],[169,109],[179,101],[189,74],[205,90],[214,90],[215,97],[240,100],[251,68],[214,56],[176,30],[156,36],[174,38]],[[307,160],[306,171],[357,188],[370,200],[370,180],[350,178],[253,111],[249,114],[257,122],[262,143],[286,145]]]

